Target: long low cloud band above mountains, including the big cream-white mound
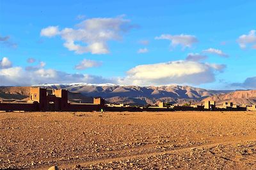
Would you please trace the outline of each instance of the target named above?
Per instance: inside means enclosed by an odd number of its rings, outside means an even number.
[[[103,78],[81,73],[66,73],[45,69],[40,62],[33,69],[1,67],[1,85],[35,85],[42,83],[119,83],[123,85],[168,85],[171,83],[199,85],[215,81],[215,74],[223,71],[223,64],[209,64],[189,60],[178,60],[133,67],[122,78]]]

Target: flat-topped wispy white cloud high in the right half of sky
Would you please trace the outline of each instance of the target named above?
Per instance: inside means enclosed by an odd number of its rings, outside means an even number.
[[[168,39],[171,41],[171,46],[175,47],[177,45],[182,46],[182,48],[191,47],[193,44],[198,42],[198,39],[192,35],[180,34],[180,35],[170,35],[162,34],[157,36],[155,39]]]

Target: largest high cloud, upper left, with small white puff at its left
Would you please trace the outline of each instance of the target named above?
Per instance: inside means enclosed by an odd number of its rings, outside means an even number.
[[[109,53],[108,41],[121,40],[122,35],[133,25],[123,16],[116,18],[90,18],[76,25],[75,28],[65,28],[59,31],[58,26],[42,29],[41,36],[52,37],[60,35],[65,40],[63,44],[68,50],[78,54]]]

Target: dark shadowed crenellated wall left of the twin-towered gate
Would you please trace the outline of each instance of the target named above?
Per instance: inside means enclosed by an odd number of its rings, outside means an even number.
[[[38,103],[0,102],[1,111],[38,111]]]

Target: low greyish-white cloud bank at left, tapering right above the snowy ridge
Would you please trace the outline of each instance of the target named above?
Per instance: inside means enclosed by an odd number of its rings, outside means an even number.
[[[115,83],[114,80],[90,74],[70,74],[55,69],[25,70],[22,67],[0,69],[0,86],[10,85],[35,85],[43,83]]]

